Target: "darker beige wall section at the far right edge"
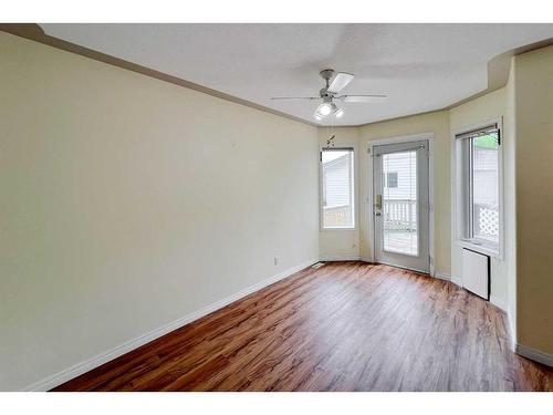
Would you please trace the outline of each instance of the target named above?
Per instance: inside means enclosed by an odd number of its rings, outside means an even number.
[[[553,355],[553,46],[517,56],[514,84],[517,341],[551,356]]]

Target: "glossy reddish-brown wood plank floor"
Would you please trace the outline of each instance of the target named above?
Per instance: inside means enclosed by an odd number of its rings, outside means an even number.
[[[307,268],[54,391],[552,391],[504,313],[364,262]]]

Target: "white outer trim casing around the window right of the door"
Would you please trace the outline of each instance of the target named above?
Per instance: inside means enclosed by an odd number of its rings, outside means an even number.
[[[459,229],[459,224],[461,224],[461,212],[459,211],[459,205],[460,205],[460,195],[458,191],[458,188],[460,188],[461,184],[461,177],[458,175],[459,170],[459,160],[458,160],[458,155],[457,155],[457,136],[460,134],[469,133],[474,129],[483,128],[489,125],[495,124],[499,129],[499,137],[500,137],[500,145],[498,149],[498,168],[499,168],[499,246],[498,249],[490,249],[486,246],[482,245],[476,245],[470,241],[462,240],[461,238],[461,231]],[[504,145],[504,137],[503,137],[503,117],[499,116],[495,118],[487,120],[484,122],[469,125],[462,128],[458,128],[455,131],[451,131],[451,239],[453,243],[457,243],[459,246],[462,246],[468,249],[472,249],[477,252],[481,252],[484,255],[488,255],[490,257],[498,258],[500,260],[504,259],[504,234],[505,234],[505,228],[504,228],[504,187],[503,187],[503,175],[504,175],[504,168],[503,168],[503,145]]]

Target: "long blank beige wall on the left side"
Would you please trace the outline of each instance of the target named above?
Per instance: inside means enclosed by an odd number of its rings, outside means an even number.
[[[0,390],[316,260],[316,128],[6,33],[0,96]]]

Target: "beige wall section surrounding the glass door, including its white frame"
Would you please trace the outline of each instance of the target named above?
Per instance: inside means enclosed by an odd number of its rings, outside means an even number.
[[[392,120],[359,128],[359,203],[361,257],[371,258],[368,237],[371,220],[368,197],[368,154],[371,141],[418,134],[434,134],[434,195],[435,195],[435,269],[438,274],[450,272],[450,187],[449,187],[449,117],[447,111]]]

